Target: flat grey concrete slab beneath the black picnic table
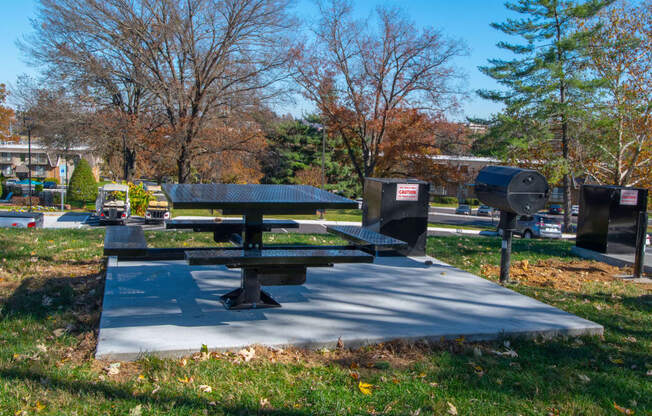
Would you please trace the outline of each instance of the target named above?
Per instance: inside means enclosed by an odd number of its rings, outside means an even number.
[[[425,260],[434,264],[428,266]],[[468,340],[600,335],[601,325],[520,295],[433,258],[311,268],[302,286],[266,290],[283,307],[228,311],[219,296],[239,271],[183,261],[109,259],[96,357],[179,356],[202,344],[332,347],[397,338]]]

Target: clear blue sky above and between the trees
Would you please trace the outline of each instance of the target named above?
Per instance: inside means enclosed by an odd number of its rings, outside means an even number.
[[[441,29],[444,34],[463,39],[470,49],[469,56],[460,57],[456,65],[468,77],[467,88],[474,91],[479,88],[495,88],[496,83],[480,73],[479,65],[484,65],[488,58],[504,57],[504,52],[496,47],[503,38],[501,34],[489,27],[491,22],[502,22],[508,17],[508,11],[501,0],[404,0],[377,1],[355,0],[355,10],[360,17],[366,17],[379,4],[399,5],[414,20],[416,27],[432,26]],[[29,19],[35,14],[33,0],[0,0],[2,25],[0,25],[0,83],[12,84],[20,74],[37,75],[34,68],[24,62],[24,57],[15,45],[16,39],[31,31]],[[299,0],[297,12],[302,18],[310,19],[316,8],[312,0]],[[295,115],[309,111],[308,104],[299,102],[278,112],[291,112]],[[463,105],[464,116],[487,117],[500,110],[492,102],[483,100],[475,94]],[[285,111],[284,111],[285,110]],[[456,118],[459,118],[456,117]]]

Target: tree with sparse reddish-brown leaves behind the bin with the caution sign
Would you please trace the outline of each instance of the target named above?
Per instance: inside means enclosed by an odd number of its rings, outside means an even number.
[[[295,79],[330,134],[342,137],[362,182],[374,173],[388,125],[406,108],[442,113],[455,106],[461,41],[415,29],[394,8],[379,7],[378,28],[352,18],[351,2],[320,3],[313,42],[299,47]]]

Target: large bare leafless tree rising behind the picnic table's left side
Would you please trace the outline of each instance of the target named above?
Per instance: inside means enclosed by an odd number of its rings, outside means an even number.
[[[185,182],[194,142],[211,121],[227,117],[243,96],[279,93],[273,86],[285,77],[294,24],[289,1],[41,0],[36,33],[23,46],[127,114],[151,97]]]

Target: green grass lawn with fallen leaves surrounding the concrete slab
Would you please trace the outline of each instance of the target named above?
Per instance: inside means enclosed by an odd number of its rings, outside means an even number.
[[[207,234],[201,236],[147,233],[153,246],[210,244]],[[604,339],[514,340],[509,348],[458,339],[224,354],[202,354],[198,345],[185,359],[144,357],[118,367],[92,358],[103,290],[102,238],[101,230],[0,230],[0,415],[652,410],[652,376],[646,375],[652,374],[650,288],[611,279],[617,269],[579,261],[565,241],[515,240],[513,275],[522,283],[514,290],[604,325]],[[311,235],[268,238],[338,242]],[[499,247],[496,238],[428,240],[430,254],[488,279],[496,279]]]

